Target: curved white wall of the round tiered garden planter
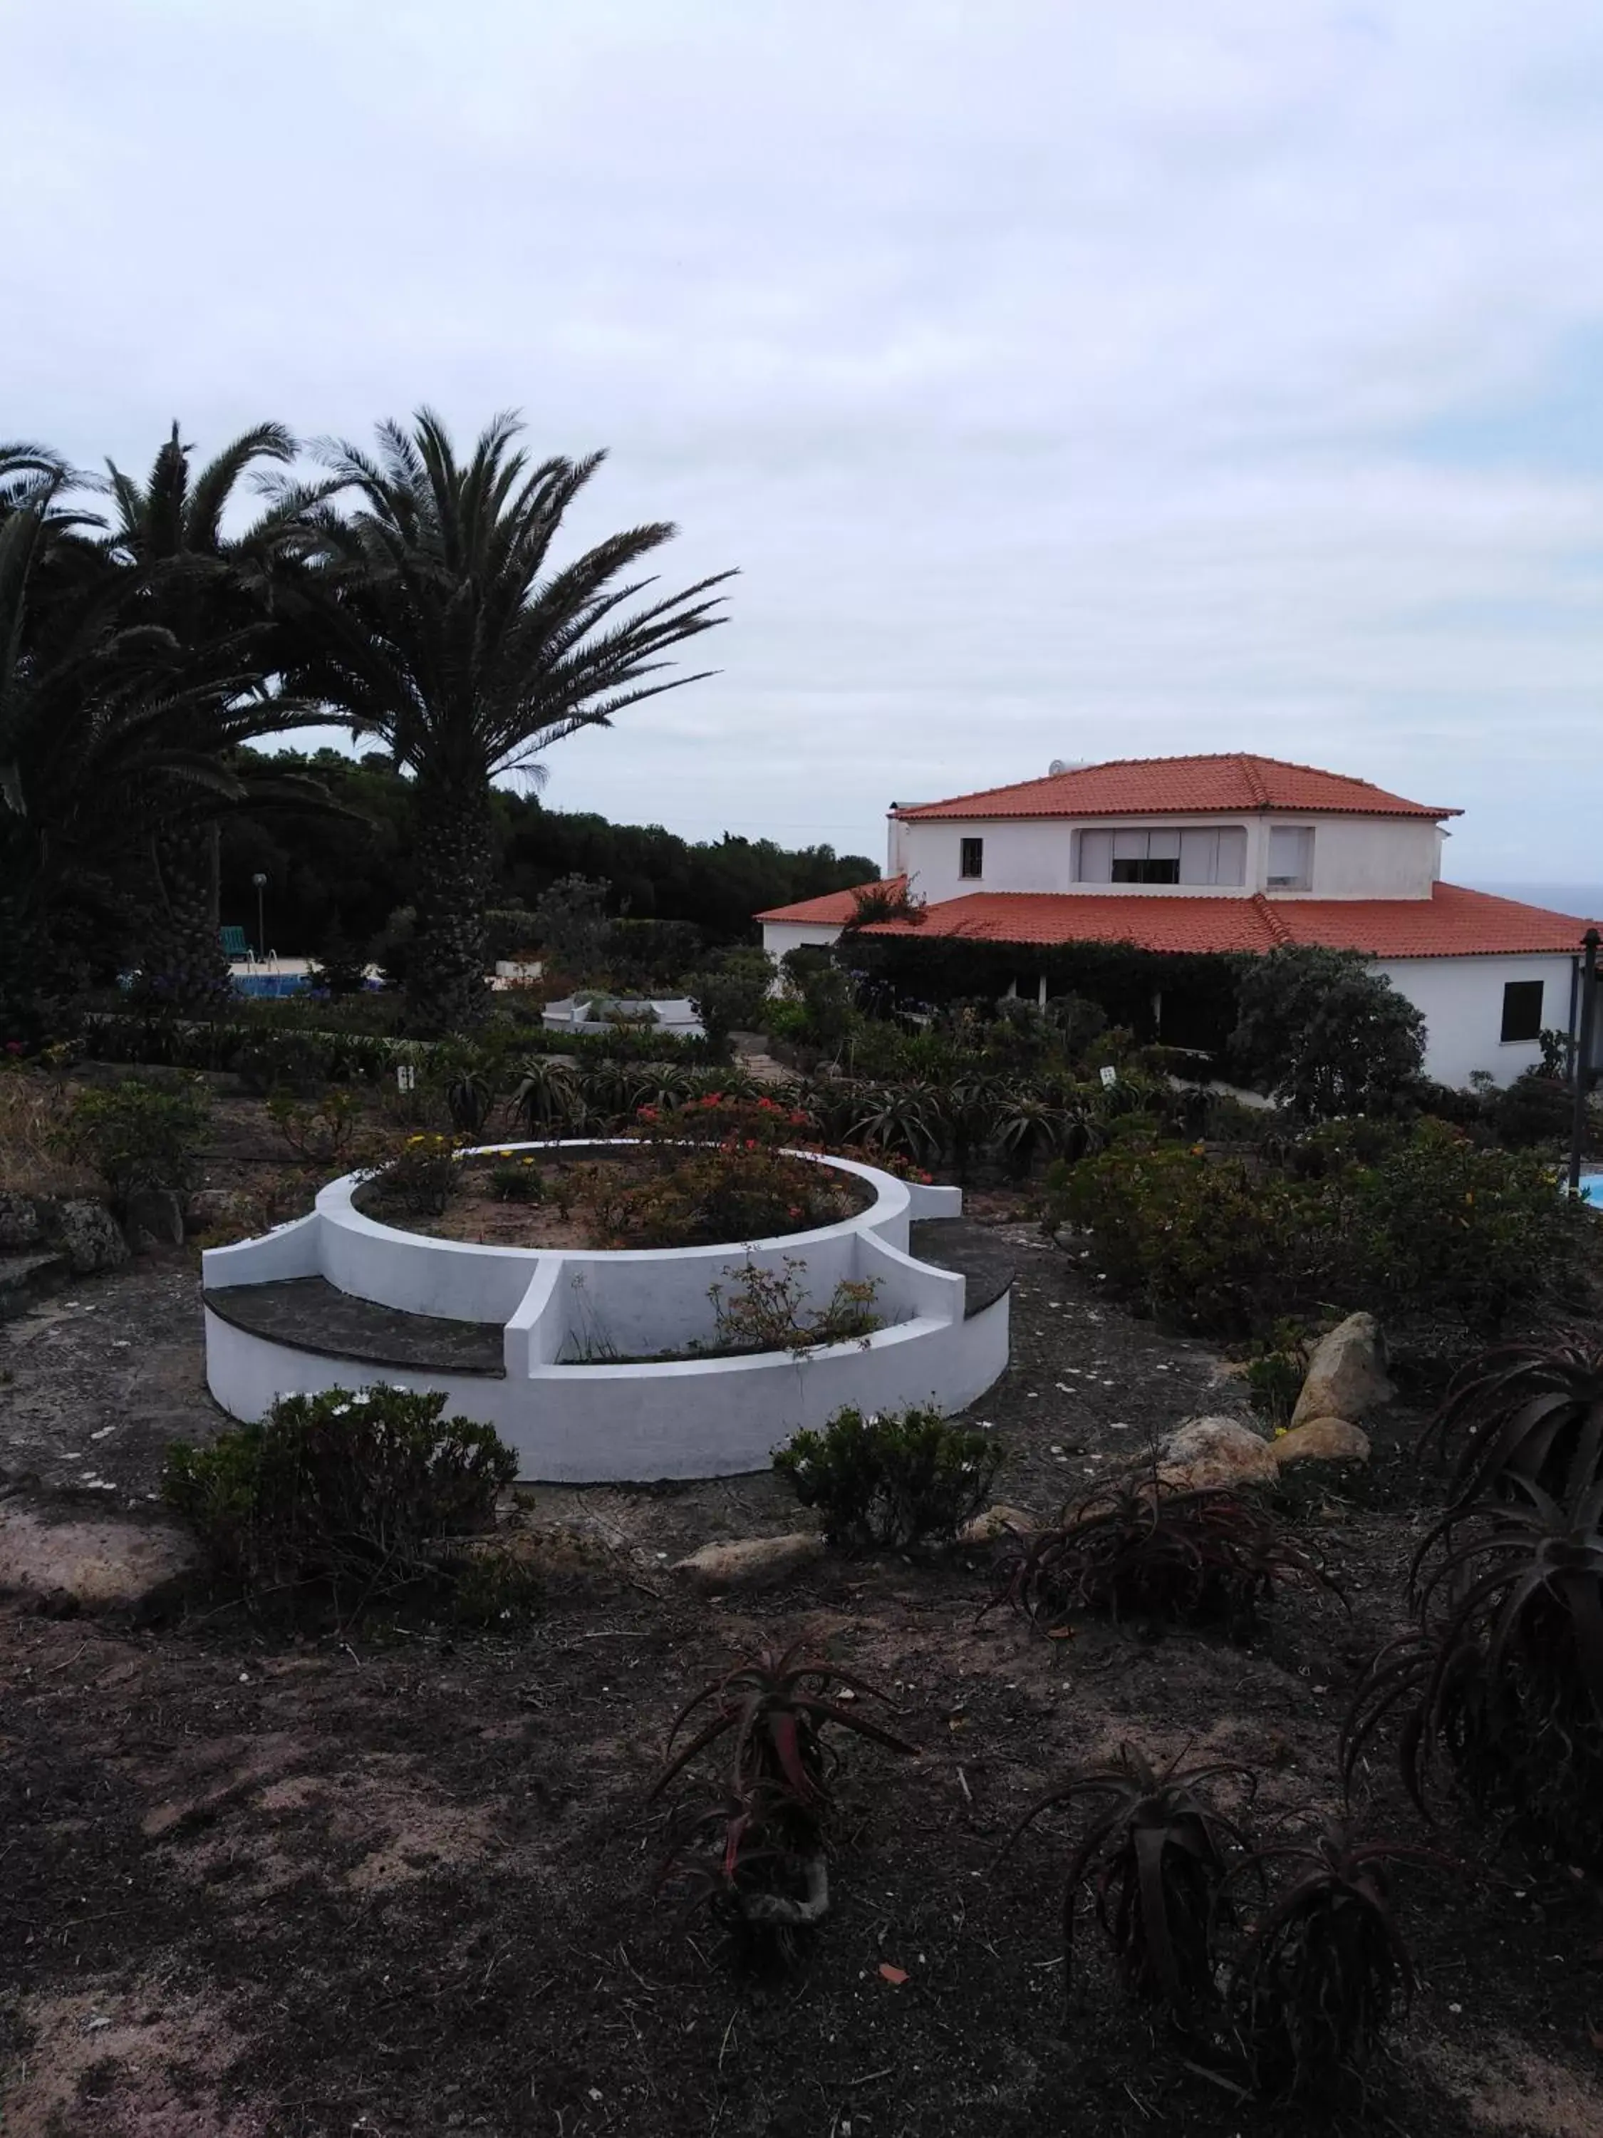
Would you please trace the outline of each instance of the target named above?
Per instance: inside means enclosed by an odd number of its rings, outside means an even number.
[[[235,1417],[261,1417],[293,1390],[374,1379],[445,1390],[451,1409],[509,1441],[519,1475],[566,1484],[763,1469],[791,1432],[825,1424],[844,1405],[958,1411],[972,1403],[1007,1368],[1007,1293],[966,1317],[964,1279],[906,1251],[908,1223],[958,1217],[962,1193],[857,1161],[816,1163],[861,1176],[874,1202],[840,1225],[780,1240],[622,1253],[430,1240],[363,1217],[351,1202],[357,1176],[336,1180],[295,1225],[207,1251],[207,1291],[323,1276],[404,1313],[500,1321],[504,1377],[363,1366],[242,1328],[207,1306],[207,1383]],[[609,1353],[707,1343],[716,1330],[707,1289],[727,1285],[744,1261],[791,1264],[814,1308],[842,1279],[874,1281],[874,1311],[889,1326],[799,1355],[607,1362]]]

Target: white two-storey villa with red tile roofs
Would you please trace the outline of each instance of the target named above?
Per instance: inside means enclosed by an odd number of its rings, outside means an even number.
[[[1443,883],[1458,815],[1278,757],[1054,765],[1015,787],[893,804],[887,874],[925,911],[868,932],[1015,943],[1020,986],[1030,945],[1359,949],[1423,1011],[1432,1078],[1462,1086],[1488,1069],[1509,1084],[1541,1060],[1543,1028],[1575,1031],[1590,924]],[[778,958],[834,943],[855,900],[759,913],[763,947]]]

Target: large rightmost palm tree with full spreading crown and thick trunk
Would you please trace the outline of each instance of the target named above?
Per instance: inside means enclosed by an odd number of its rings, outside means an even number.
[[[353,509],[312,513],[327,601],[308,618],[297,688],[376,733],[417,783],[417,936],[408,973],[419,1031],[483,1018],[492,881],[489,785],[626,706],[699,676],[665,654],[722,622],[707,599],[733,573],[635,599],[633,577],[667,522],[626,528],[554,567],[562,515],[603,453],[532,464],[522,423],[498,415],[457,462],[440,417],[383,423],[376,455],[325,447]],[[701,671],[705,673],[705,671]]]

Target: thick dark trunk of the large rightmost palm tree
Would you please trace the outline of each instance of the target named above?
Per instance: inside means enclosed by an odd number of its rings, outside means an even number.
[[[419,774],[417,932],[406,971],[406,1022],[419,1035],[472,1031],[489,1013],[492,868],[489,780]]]

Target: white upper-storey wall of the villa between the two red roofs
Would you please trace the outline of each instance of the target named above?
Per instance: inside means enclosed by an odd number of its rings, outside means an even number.
[[[1244,883],[1077,883],[1075,834],[1094,830],[1218,830],[1246,832]],[[1276,825],[1312,825],[1312,898],[1430,898],[1441,864],[1441,832],[1415,817],[975,817],[902,823],[891,819],[891,872],[911,874],[917,896],[932,904],[968,892],[1075,892],[1150,898],[1250,898],[1267,887],[1270,832]],[[985,842],[983,877],[960,877],[964,838]]]

